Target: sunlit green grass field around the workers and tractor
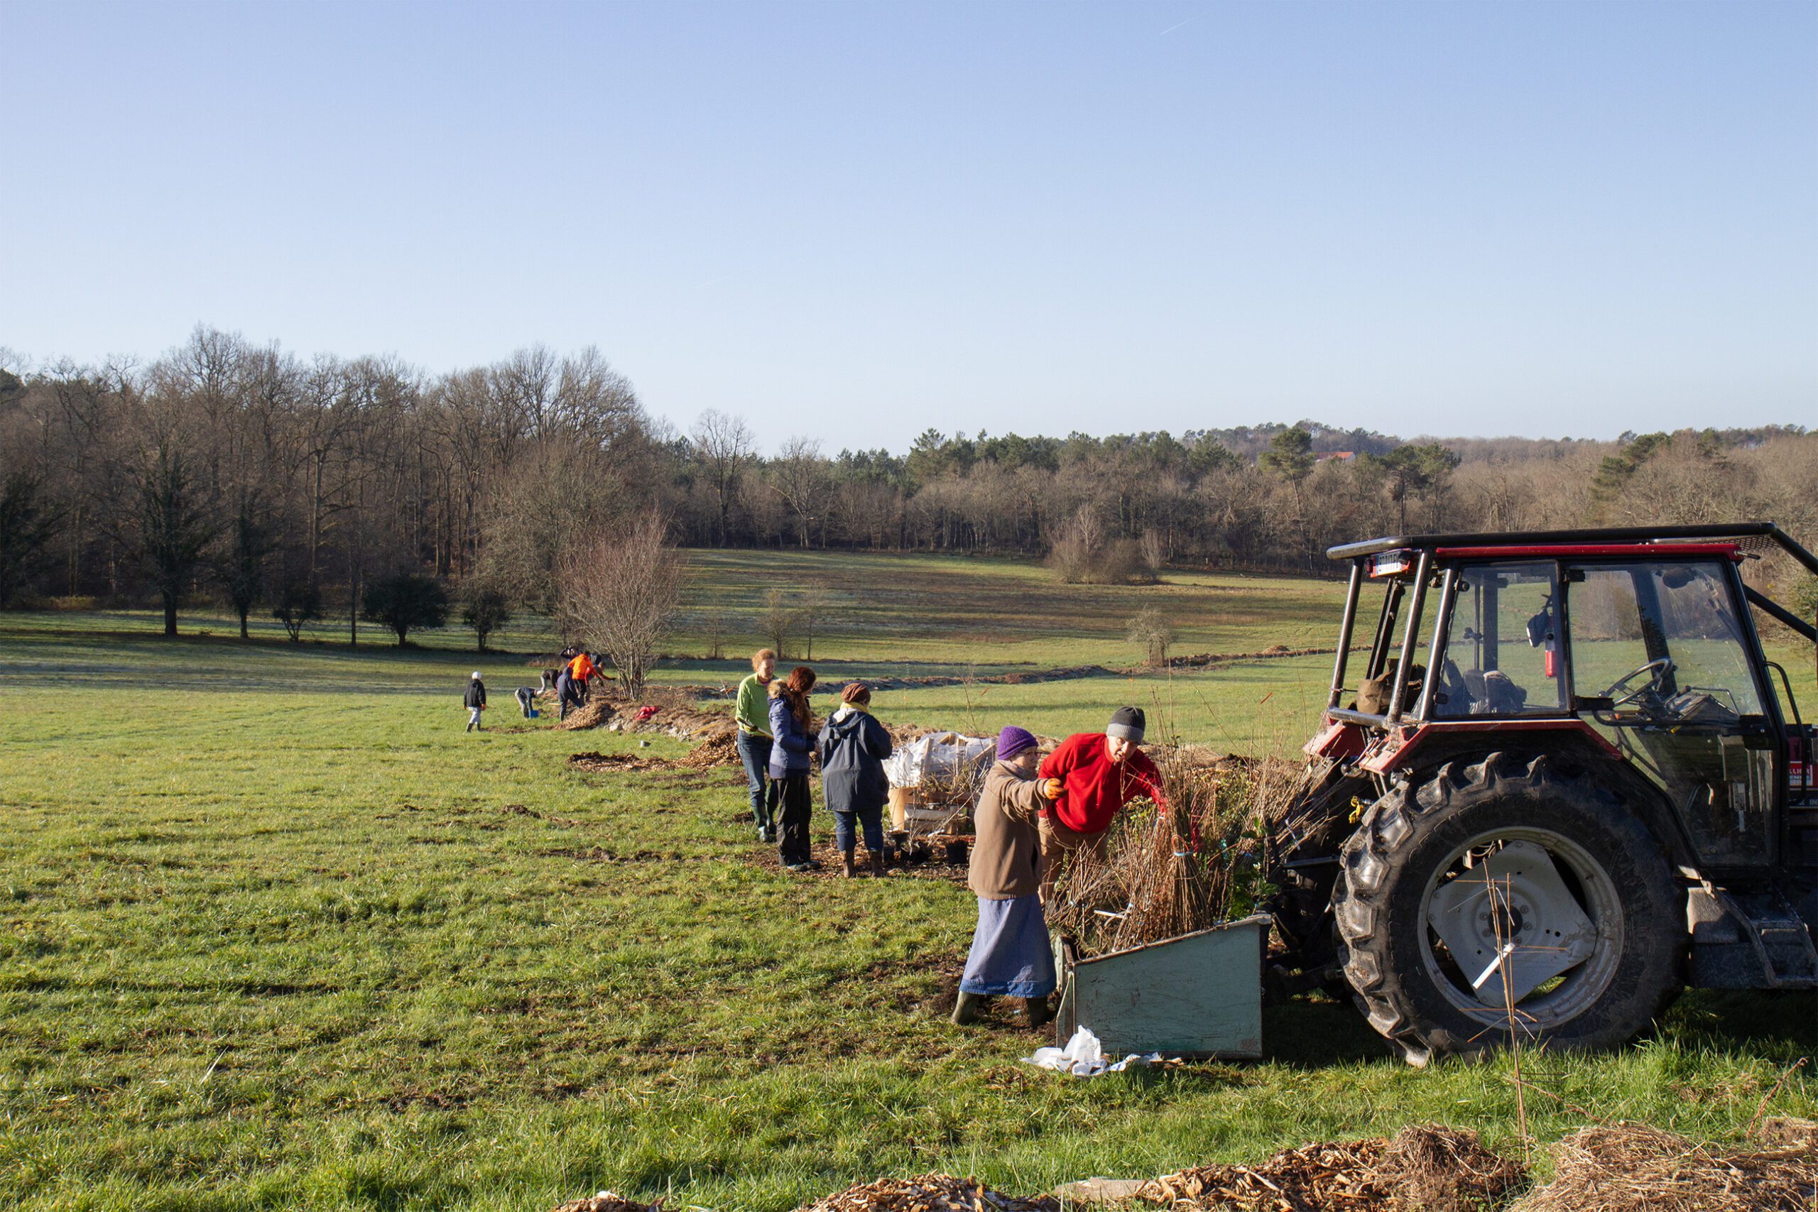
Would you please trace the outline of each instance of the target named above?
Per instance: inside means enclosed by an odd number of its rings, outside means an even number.
[[[704,563],[725,592],[773,567]],[[894,596],[864,601],[884,572]],[[816,643],[836,658],[824,676],[1131,660],[1136,591],[1056,611],[1014,567],[927,576],[945,596],[920,589],[920,563],[854,561],[840,592],[874,614]],[[1331,631],[1325,585],[1205,591],[1231,609],[1184,625],[1182,651]],[[962,601],[984,605],[940,612]],[[1284,601],[1300,616],[1274,634]],[[1416,1119],[1514,1147],[1507,1061],[1411,1070],[1333,1003],[1271,1010],[1256,1065],[1091,1083],[1022,1067],[1033,1034],[942,1018],[971,934],[962,887],[762,867],[724,770],[565,769],[636,741],[520,721],[505,700],[524,656],[478,661],[500,705],[469,736],[456,696],[474,656],[456,634],[400,652],[153,629],[0,616],[4,1205],[544,1212],[613,1187],[769,1212],[878,1174],[1038,1190]],[[1171,696],[1198,740],[1274,745],[1298,740],[1324,676],[1300,658],[900,690],[880,709],[1060,732]],[[1813,1010],[1689,994],[1620,1054],[1531,1054],[1525,1072],[1594,1116],[1733,1137],[1818,1045]],[[1818,1114],[1818,1083],[1793,1076],[1774,1108]],[[1540,1139],[1582,1125],[1551,1099],[1529,1114]]]

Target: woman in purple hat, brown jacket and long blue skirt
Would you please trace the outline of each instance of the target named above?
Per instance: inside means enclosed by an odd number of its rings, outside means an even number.
[[[953,1021],[978,1019],[991,996],[1022,998],[1029,1025],[1053,1018],[1054,956],[1042,918],[1042,838],[1036,814],[1049,807],[1034,778],[1036,741],[1018,727],[998,734],[998,760],[973,812],[978,838],[967,885],[978,896],[978,929],[960,978]]]

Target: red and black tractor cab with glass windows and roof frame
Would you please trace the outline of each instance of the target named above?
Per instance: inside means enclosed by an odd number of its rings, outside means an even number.
[[[1765,523],[1763,523],[1765,525]],[[1751,605],[1805,638],[1814,625],[1749,589],[1762,525],[1383,538],[1333,549],[1351,591],[1309,752],[1373,772],[1480,749],[1485,734],[1603,750],[1673,805],[1673,850],[1722,874],[1813,861],[1818,830],[1778,805],[1813,803],[1813,727],[1787,671],[1765,660]],[[1371,601],[1374,598],[1374,601]],[[1374,607],[1353,671],[1356,620]],[[1796,856],[1793,850],[1805,850]]]

